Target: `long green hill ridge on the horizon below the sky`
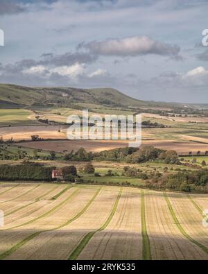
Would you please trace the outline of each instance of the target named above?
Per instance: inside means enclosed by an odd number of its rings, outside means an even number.
[[[111,107],[172,108],[182,106],[179,103],[160,103],[133,99],[116,89],[96,88],[78,89],[73,87],[23,87],[19,85],[0,84],[0,107],[22,108],[46,105],[76,105],[78,103],[95,103]]]

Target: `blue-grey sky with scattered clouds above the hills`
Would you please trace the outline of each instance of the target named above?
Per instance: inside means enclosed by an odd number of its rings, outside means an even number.
[[[207,11],[207,0],[0,0],[0,83],[208,103]]]

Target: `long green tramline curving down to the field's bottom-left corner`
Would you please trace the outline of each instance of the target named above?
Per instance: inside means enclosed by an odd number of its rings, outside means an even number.
[[[78,189],[76,191],[78,191]],[[28,241],[31,241],[31,239],[37,237],[41,233],[58,230],[60,228],[64,228],[64,226],[69,225],[69,223],[72,223],[73,221],[75,221],[76,219],[78,219],[82,214],[85,213],[85,211],[88,209],[88,207],[94,202],[94,199],[96,198],[96,196],[98,196],[98,194],[99,194],[100,191],[101,191],[101,188],[96,191],[96,193],[91,198],[91,200],[89,200],[89,202],[87,203],[87,205],[85,205],[85,207],[78,214],[76,214],[76,216],[74,216],[72,219],[70,219],[66,223],[63,223],[62,225],[59,225],[56,228],[52,228],[51,230],[41,230],[41,231],[38,231],[38,232],[35,232],[35,233],[31,234],[30,236],[26,237],[25,239],[23,239],[22,241],[20,241],[19,243],[17,243],[15,246],[12,246],[12,248],[10,248],[9,250],[6,250],[6,252],[1,253],[0,260],[4,259],[8,255],[11,255],[17,249],[21,248],[21,246],[24,246],[25,243],[28,243]]]

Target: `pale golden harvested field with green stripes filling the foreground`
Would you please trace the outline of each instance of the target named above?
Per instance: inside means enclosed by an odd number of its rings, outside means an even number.
[[[56,183],[0,184],[0,259],[208,259],[208,196]]]

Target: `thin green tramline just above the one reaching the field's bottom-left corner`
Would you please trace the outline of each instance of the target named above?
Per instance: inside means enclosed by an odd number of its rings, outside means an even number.
[[[80,189],[76,189],[75,191],[73,191],[73,193],[68,198],[66,198],[65,200],[62,200],[61,203],[59,203],[58,205],[55,205],[55,207],[52,207],[49,211],[47,211],[44,214],[36,217],[35,219],[27,221],[26,223],[21,223],[21,225],[15,225],[15,226],[12,226],[11,228],[6,228],[6,229],[1,230],[1,231],[11,230],[11,229],[14,229],[14,228],[20,228],[20,227],[22,227],[24,225],[29,225],[31,223],[34,223],[37,220],[40,220],[40,219],[42,219],[42,218],[44,218],[46,216],[49,216],[49,214],[55,212],[55,210],[59,209],[60,207],[62,207],[62,205],[64,205],[65,203],[67,203],[69,200],[71,200],[71,198],[73,198],[73,196],[75,196],[78,193],[78,191],[80,191]]]

